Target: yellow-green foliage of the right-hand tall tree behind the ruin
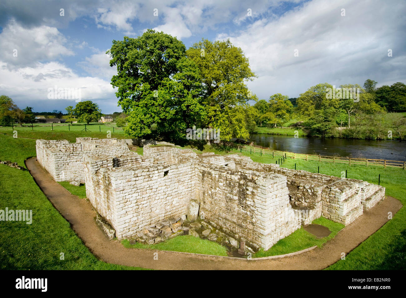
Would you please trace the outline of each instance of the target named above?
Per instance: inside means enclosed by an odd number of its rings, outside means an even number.
[[[221,139],[249,136],[244,122],[244,104],[256,100],[245,82],[253,80],[248,58],[241,48],[227,41],[202,39],[186,51],[201,73],[202,122],[220,129]]]

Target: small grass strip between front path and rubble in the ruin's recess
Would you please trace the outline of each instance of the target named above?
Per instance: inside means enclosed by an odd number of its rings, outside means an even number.
[[[130,244],[130,241],[123,240],[121,243],[127,248],[149,248],[155,250],[170,250],[179,252],[192,252],[195,254],[213,254],[216,256],[227,256],[227,248],[216,242],[200,239],[191,235],[181,235],[158,244]]]

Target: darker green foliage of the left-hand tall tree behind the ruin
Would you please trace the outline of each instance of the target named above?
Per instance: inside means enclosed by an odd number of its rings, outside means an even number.
[[[199,121],[201,78],[185,50],[175,37],[154,30],[136,39],[113,41],[110,66],[117,65],[118,73],[111,83],[118,87],[119,105],[128,116],[124,128],[128,135],[155,133],[177,139]]]

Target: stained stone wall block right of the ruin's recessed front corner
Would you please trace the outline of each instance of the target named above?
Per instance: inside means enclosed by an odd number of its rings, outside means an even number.
[[[269,249],[300,228],[289,204],[286,177],[196,165],[199,214],[252,246]],[[262,176],[261,178],[258,178]]]

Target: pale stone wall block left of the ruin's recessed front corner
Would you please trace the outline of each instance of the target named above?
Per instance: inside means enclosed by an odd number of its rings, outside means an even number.
[[[192,163],[162,166],[138,158],[135,152],[129,155],[134,157],[126,157],[123,167],[113,167],[113,160],[120,157],[85,157],[86,196],[119,239],[186,214],[194,194]],[[130,164],[130,160],[136,162]]]

